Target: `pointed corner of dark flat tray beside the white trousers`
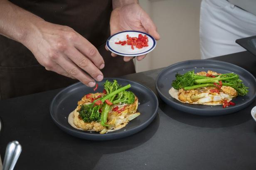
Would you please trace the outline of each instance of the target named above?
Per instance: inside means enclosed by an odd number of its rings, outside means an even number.
[[[237,39],[236,43],[256,56],[256,36]]]

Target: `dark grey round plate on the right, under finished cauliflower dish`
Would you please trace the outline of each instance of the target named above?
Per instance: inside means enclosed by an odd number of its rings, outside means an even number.
[[[246,96],[236,97],[234,100],[236,105],[225,109],[222,106],[205,106],[199,104],[181,103],[169,95],[169,89],[172,87],[172,81],[175,80],[175,74],[184,74],[187,71],[194,70],[195,72],[213,70],[217,73],[236,73],[243,80],[244,85],[249,87],[249,93]],[[155,83],[156,90],[164,102],[183,112],[198,114],[198,115],[223,115],[237,112],[247,107],[256,97],[256,79],[244,68],[234,64],[216,60],[190,60],[173,64],[158,75]]]

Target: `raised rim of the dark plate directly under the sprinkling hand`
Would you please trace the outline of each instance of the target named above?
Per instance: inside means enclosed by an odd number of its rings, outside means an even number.
[[[102,81],[104,80],[108,80],[108,79],[115,79],[115,80],[125,80],[127,81],[128,79],[123,79],[123,78],[104,78]],[[155,95],[155,93],[153,92],[153,90],[151,90],[149,87],[147,87],[146,85],[143,85],[141,83],[138,83],[138,82],[135,82],[133,80],[128,80],[130,82],[133,82],[133,83],[136,83],[136,84],[139,84],[139,85],[142,85],[143,87],[145,87],[146,89],[150,90],[150,92],[153,94],[154,96],[154,99],[156,100],[156,108],[155,110],[153,111],[153,114],[152,116],[147,120],[145,121],[143,124],[140,124],[139,126],[136,126],[136,128],[133,128],[133,129],[129,129],[129,130],[126,130],[126,131],[119,131],[119,132],[114,132],[114,133],[107,133],[107,134],[99,134],[99,133],[86,133],[85,136],[93,136],[93,137],[98,137],[98,139],[89,139],[89,138],[84,138],[84,139],[87,139],[87,140],[94,140],[94,141],[99,141],[99,140],[112,140],[112,139],[118,139],[118,138],[124,138],[124,137],[127,137],[127,136],[130,136],[130,135],[133,135],[133,134],[136,134],[138,133],[139,131],[145,129],[156,117],[157,113],[158,113],[158,107],[159,107],[159,102],[158,102],[158,98],[157,96]],[[63,126],[62,124],[60,124],[57,120],[54,119],[54,116],[53,116],[53,111],[52,111],[52,108],[53,108],[53,104],[54,104],[54,101],[56,100],[56,98],[62,94],[62,92],[64,92],[65,90],[67,90],[68,88],[71,88],[73,86],[76,86],[78,84],[82,84],[81,82],[77,82],[77,83],[74,83],[72,85],[69,85],[67,87],[65,87],[64,89],[62,89],[60,92],[57,93],[57,95],[54,96],[54,98],[52,99],[52,102],[50,104],[50,115],[52,117],[52,120],[54,121],[54,123],[60,128],[62,129],[63,131],[65,131],[66,133],[70,134],[69,132],[67,131],[71,131],[72,133],[75,133],[75,134],[79,134],[79,135],[84,135],[84,131],[79,131],[78,129],[73,129],[73,127],[71,128],[68,128],[66,126]],[[145,127],[143,127],[145,126]],[[65,130],[64,130],[65,129]],[[138,131],[136,131],[137,129],[139,129]],[[130,134],[131,131],[135,131],[135,133],[132,133]],[[121,134],[121,135],[120,135]],[[126,134],[124,136],[122,136],[123,134]],[[72,136],[76,136],[76,135],[73,135],[73,134],[70,134]],[[120,135],[121,137],[114,137],[114,138],[111,138],[112,136],[118,136]],[[78,136],[76,136],[78,137]],[[81,137],[78,137],[78,138],[81,138]],[[110,138],[110,139],[109,139]]]

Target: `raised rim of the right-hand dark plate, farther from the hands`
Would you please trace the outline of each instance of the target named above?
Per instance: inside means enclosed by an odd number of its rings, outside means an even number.
[[[187,61],[181,61],[181,62],[178,62],[178,63],[174,63],[170,66],[167,66],[165,69],[163,69],[157,76],[156,80],[155,80],[155,89],[157,90],[159,96],[161,97],[162,100],[164,100],[164,102],[166,104],[168,104],[169,106],[171,107],[174,107],[175,109],[178,109],[178,110],[181,110],[182,112],[185,112],[182,108],[184,109],[190,109],[192,111],[200,111],[200,112],[213,112],[214,109],[200,109],[200,108],[194,108],[194,107],[190,107],[190,106],[186,106],[184,105],[183,103],[176,103],[176,102],[172,102],[170,101],[167,97],[165,97],[165,95],[162,94],[162,92],[160,91],[159,87],[158,87],[158,81],[159,81],[159,78],[160,78],[160,75],[162,73],[164,73],[166,70],[168,70],[170,67],[173,67],[173,66],[176,66],[176,65],[180,65],[182,63],[187,63],[187,62],[201,62],[201,61],[209,61],[209,62],[215,62],[215,63],[224,63],[224,64],[229,64],[233,67],[236,67],[236,68],[239,68],[245,72],[247,72],[252,78],[253,78],[253,81],[256,83],[256,78],[254,77],[254,75],[252,75],[249,71],[247,71],[246,69],[244,68],[241,68],[235,64],[232,64],[232,63],[228,63],[228,62],[225,62],[225,61],[218,61],[218,60],[212,60],[212,59],[205,59],[205,60],[187,60]],[[245,107],[247,107],[249,104],[251,104],[256,98],[256,92],[254,93],[254,96],[248,101],[246,102],[245,104],[241,105],[241,106],[234,106],[234,107],[228,107],[224,110],[224,114],[231,114],[231,113],[234,113],[234,112],[237,112]],[[170,104],[172,103],[172,104]],[[180,109],[181,108],[181,109]],[[236,108],[241,108],[237,111],[232,111]],[[197,113],[193,113],[193,112],[187,112],[187,113],[190,113],[190,114],[196,114],[196,115],[202,115],[202,116],[214,116],[214,115],[224,115],[224,114],[197,114]]]

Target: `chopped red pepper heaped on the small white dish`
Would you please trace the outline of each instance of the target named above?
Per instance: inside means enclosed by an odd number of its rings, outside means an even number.
[[[127,39],[127,41],[118,41],[118,42],[115,42],[115,44],[121,44],[122,46],[124,46],[127,43],[127,45],[130,45],[131,49],[133,49],[133,50],[134,50],[133,46],[135,46],[138,49],[142,49],[143,47],[148,46],[148,37],[147,37],[147,35],[143,36],[142,34],[139,34],[138,38],[137,38],[137,37],[130,37],[127,34],[126,39]]]

